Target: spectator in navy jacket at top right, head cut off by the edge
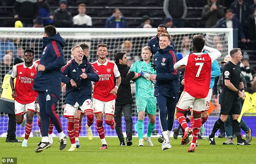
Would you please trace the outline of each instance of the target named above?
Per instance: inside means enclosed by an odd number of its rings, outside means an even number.
[[[246,20],[249,17],[249,5],[244,0],[235,0],[231,5],[230,9],[233,10],[235,17],[239,20],[243,28],[246,28]]]

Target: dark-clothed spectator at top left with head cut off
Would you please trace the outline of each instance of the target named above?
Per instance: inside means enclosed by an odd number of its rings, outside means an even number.
[[[14,19],[19,19],[23,27],[33,27],[33,19],[38,16],[37,0],[16,0]]]

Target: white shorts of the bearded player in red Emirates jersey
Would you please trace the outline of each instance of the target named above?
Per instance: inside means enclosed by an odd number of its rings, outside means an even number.
[[[103,102],[103,101],[100,101],[100,100],[97,100],[97,99],[93,99],[92,100],[92,104],[93,104],[93,107],[94,107],[94,111],[93,113],[94,114],[97,114],[97,113],[105,113],[105,114],[109,114],[109,115],[112,115],[114,116],[115,114],[115,100],[111,100],[109,102]]]

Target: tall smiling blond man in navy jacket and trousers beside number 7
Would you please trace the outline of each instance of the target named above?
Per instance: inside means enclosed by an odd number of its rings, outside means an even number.
[[[179,58],[174,52],[174,47],[170,46],[170,39],[171,36],[168,33],[160,35],[160,50],[154,56],[157,75],[150,75],[152,81],[156,80],[154,95],[159,107],[159,124],[164,136],[162,150],[172,147],[169,138],[174,124],[174,112],[180,90],[180,72],[173,68]],[[168,120],[166,115],[168,115]]]

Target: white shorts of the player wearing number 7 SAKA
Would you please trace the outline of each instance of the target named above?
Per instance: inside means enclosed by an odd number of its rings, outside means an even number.
[[[194,98],[186,91],[183,91],[180,95],[180,100],[178,101],[176,108],[180,111],[187,111],[193,108],[193,112],[201,113],[204,111],[205,98]]]

